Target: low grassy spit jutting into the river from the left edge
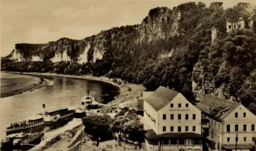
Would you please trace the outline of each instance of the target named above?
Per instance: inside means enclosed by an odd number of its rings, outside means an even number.
[[[8,72],[3,72],[3,73],[8,73]],[[34,82],[28,82],[22,86],[19,85],[16,87],[16,89],[12,89],[11,91],[1,91],[0,97],[3,98],[3,97],[16,95],[16,94],[32,92],[32,91],[35,91],[36,89],[45,87],[46,85],[48,85],[48,83],[45,79],[44,81],[41,81],[40,78],[37,77],[34,79]]]

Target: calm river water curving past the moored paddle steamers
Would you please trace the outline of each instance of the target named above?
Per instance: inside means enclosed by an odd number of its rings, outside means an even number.
[[[1,73],[1,91],[11,91],[26,87],[40,79],[28,75]],[[90,95],[100,103],[108,103],[119,94],[119,88],[99,81],[69,78],[48,78],[50,85],[32,92],[0,98],[0,139],[11,122],[16,122],[41,112],[42,104],[47,110],[62,107],[76,108],[82,96],[90,90]],[[108,94],[108,97],[102,95]]]

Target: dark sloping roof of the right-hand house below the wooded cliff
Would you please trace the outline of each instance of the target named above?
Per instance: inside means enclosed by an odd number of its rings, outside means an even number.
[[[196,107],[203,113],[211,116],[212,118],[223,120],[241,103],[231,102],[227,99],[218,98],[207,94],[201,102],[197,103]]]

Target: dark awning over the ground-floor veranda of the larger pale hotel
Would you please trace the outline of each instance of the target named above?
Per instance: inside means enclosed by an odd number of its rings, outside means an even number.
[[[201,134],[197,133],[164,133],[158,135],[161,138],[203,138]]]

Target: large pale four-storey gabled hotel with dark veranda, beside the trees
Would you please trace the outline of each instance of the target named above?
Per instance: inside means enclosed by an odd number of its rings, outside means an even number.
[[[181,93],[160,86],[143,110],[148,150],[202,150],[201,111]]]

